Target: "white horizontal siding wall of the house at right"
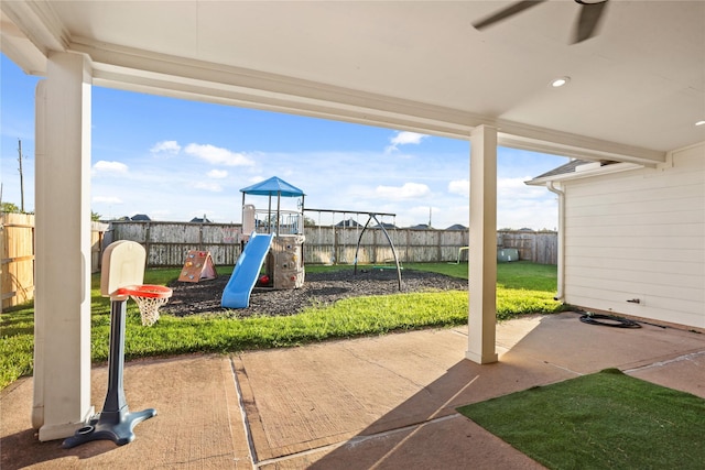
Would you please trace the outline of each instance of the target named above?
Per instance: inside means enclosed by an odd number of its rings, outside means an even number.
[[[564,192],[566,303],[705,328],[705,143]]]

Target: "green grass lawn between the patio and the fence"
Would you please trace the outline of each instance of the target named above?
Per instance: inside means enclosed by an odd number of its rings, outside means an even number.
[[[316,272],[350,266],[306,266]],[[425,270],[467,278],[467,263],[406,264],[405,270]],[[221,275],[232,269],[218,267]],[[556,267],[528,262],[501,263],[497,270],[497,317],[561,311],[553,300]],[[167,284],[180,269],[148,270],[145,284]],[[402,274],[403,278],[403,274]],[[137,306],[128,303],[126,359],[173,356],[186,352],[227,352],[276,348],[382,335],[389,331],[449,327],[467,323],[466,291],[356,297],[325,308],[308,308],[286,317],[237,318],[232,313],[175,317],[162,315],[152,327],[142,327]],[[91,285],[91,357],[108,359],[110,302],[100,296],[100,277]],[[34,309],[32,305],[0,315],[0,389],[32,373]]]

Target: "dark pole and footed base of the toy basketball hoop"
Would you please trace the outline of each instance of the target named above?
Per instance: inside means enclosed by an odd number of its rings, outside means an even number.
[[[134,426],[144,419],[156,416],[156,409],[147,408],[130,413],[124,387],[122,386],[122,370],[124,365],[124,317],[127,299],[110,303],[110,354],[108,357],[108,393],[102,412],[91,418],[86,426],[78,429],[62,444],[64,449],[70,449],[91,440],[112,440],[118,446],[124,446],[134,439]]]

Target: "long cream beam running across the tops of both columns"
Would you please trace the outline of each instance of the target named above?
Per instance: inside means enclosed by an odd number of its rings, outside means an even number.
[[[183,61],[118,46],[73,43],[91,58],[94,84],[129,91],[257,108],[323,119],[467,139],[478,125],[498,129],[508,147],[584,160],[616,160],[655,166],[665,152],[589,139],[457,109],[391,98],[239,67]]]

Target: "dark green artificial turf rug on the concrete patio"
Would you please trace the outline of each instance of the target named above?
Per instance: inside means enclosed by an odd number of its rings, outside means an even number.
[[[458,412],[550,469],[705,469],[705,400],[617,369]]]

